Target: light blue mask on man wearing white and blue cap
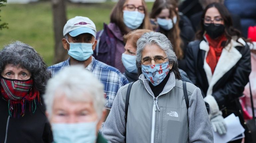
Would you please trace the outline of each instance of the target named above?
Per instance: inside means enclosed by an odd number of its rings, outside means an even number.
[[[67,54],[78,61],[85,61],[93,54],[92,45],[94,44],[94,42],[69,43],[67,41],[67,43],[70,45]]]

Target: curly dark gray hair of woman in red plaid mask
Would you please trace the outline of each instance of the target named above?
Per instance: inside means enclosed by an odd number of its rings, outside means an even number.
[[[36,89],[40,93],[44,93],[51,72],[47,71],[47,65],[43,58],[30,45],[20,41],[6,45],[0,51],[0,61],[0,73],[8,64],[27,69],[31,72]]]

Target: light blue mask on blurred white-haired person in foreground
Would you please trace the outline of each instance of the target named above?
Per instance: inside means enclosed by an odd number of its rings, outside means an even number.
[[[52,123],[54,143],[95,143],[97,122]]]

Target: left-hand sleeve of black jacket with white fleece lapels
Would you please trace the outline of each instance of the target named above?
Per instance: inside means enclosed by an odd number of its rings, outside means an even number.
[[[195,57],[193,56],[193,50],[192,49],[192,42],[189,43],[188,47],[187,47],[187,52],[186,52],[186,66],[187,66],[187,74],[190,78],[190,80],[192,81],[192,83],[194,85],[197,86],[197,77],[196,77],[196,73],[195,73]]]

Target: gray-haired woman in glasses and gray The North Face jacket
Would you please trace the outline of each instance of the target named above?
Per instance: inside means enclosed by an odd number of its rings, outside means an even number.
[[[158,32],[145,33],[137,42],[136,54],[139,80],[118,90],[103,136],[121,143],[213,142],[200,89],[180,80],[168,38]]]

